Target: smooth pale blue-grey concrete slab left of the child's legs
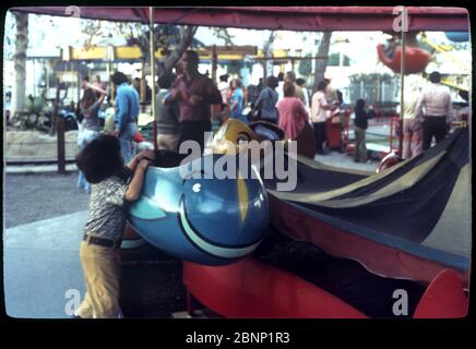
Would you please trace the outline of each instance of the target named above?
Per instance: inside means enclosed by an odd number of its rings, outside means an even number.
[[[80,262],[87,210],[4,230],[3,289],[12,317],[67,318],[69,292],[84,297]],[[78,290],[78,291],[74,291]]]

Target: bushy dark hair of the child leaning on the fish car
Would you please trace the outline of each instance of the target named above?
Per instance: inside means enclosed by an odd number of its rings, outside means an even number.
[[[111,176],[124,177],[119,140],[99,135],[76,156],[76,164],[90,183],[99,183]]]

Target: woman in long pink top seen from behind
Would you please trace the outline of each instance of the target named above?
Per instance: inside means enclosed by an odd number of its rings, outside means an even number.
[[[279,127],[284,130],[286,139],[296,140],[306,125],[308,112],[306,111],[302,101],[299,98],[294,97],[294,83],[285,83],[283,86],[283,93],[284,98],[277,103]]]

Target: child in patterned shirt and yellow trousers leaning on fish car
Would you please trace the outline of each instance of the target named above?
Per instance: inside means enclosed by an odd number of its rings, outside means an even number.
[[[139,198],[154,156],[154,151],[141,152],[124,167],[119,140],[112,135],[95,139],[78,155],[78,167],[92,183],[92,193],[80,250],[86,294],[73,317],[121,317],[119,246],[124,206]]]

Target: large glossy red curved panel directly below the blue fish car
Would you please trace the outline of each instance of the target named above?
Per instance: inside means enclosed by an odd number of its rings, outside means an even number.
[[[252,257],[226,266],[183,262],[183,282],[202,304],[225,317],[366,317],[323,289]]]

